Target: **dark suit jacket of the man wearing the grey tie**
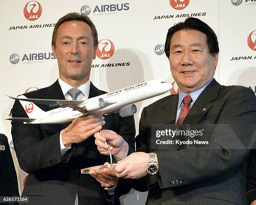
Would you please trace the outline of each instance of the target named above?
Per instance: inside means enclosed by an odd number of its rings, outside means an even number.
[[[91,84],[89,98],[104,94]],[[51,86],[24,94],[28,98],[64,99],[59,82]],[[56,107],[38,106],[49,111]],[[19,101],[15,101],[11,110],[13,117],[27,117]],[[121,118],[118,114],[105,116],[103,129],[110,129],[124,137],[133,150],[135,125],[133,116]],[[90,175],[80,175],[85,167],[102,165],[108,157],[101,155],[95,145],[95,138],[89,137],[82,143],[72,144],[72,149],[61,157],[59,135],[64,124],[23,124],[12,121],[12,136],[15,152],[22,170],[28,172],[28,180],[23,196],[30,196],[31,204],[67,204],[74,205],[78,193],[79,205],[109,204],[105,200],[107,192]],[[120,203],[118,197],[128,193],[129,187],[118,182],[112,203]],[[109,196],[107,196],[109,198]]]

